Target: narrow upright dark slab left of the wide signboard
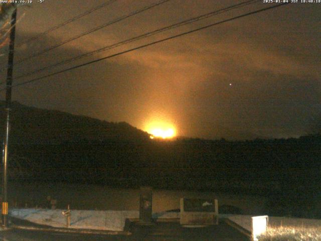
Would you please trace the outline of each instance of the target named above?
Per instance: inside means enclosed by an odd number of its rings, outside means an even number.
[[[152,189],[151,187],[140,188],[139,199],[139,223],[151,224],[151,207],[152,207]]]

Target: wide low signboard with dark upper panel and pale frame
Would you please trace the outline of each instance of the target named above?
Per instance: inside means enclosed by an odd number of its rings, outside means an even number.
[[[180,223],[183,225],[218,224],[217,199],[181,199]]]

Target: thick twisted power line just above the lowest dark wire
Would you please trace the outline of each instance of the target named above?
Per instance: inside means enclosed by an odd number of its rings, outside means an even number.
[[[99,52],[102,52],[102,51],[110,50],[110,49],[119,47],[119,46],[124,45],[124,44],[128,44],[128,43],[140,40],[140,39],[144,39],[144,38],[159,34],[161,32],[165,32],[165,31],[168,31],[168,30],[171,30],[171,29],[174,29],[174,28],[178,28],[178,27],[182,27],[184,25],[191,24],[191,23],[194,23],[194,22],[197,22],[197,21],[200,21],[200,20],[204,20],[204,19],[213,17],[214,15],[218,15],[218,14],[221,14],[221,13],[224,13],[224,12],[231,11],[233,9],[244,7],[244,6],[247,6],[247,5],[250,5],[250,4],[254,4],[255,2],[258,2],[258,1],[259,0],[250,0],[250,1],[247,1],[247,2],[239,3],[239,4],[236,4],[236,5],[232,5],[232,6],[220,9],[220,10],[216,10],[214,12],[210,12],[210,13],[207,13],[207,14],[204,14],[204,15],[200,15],[200,16],[195,17],[195,18],[191,18],[191,19],[188,19],[188,20],[185,20],[185,21],[182,21],[182,22],[179,22],[179,23],[176,23],[176,24],[173,24],[173,25],[161,28],[161,29],[157,29],[157,30],[154,30],[154,31],[151,31],[151,32],[147,32],[145,34],[142,34],[142,35],[139,35],[139,36],[136,36],[136,37],[133,37],[133,38],[130,38],[130,39],[127,39],[127,40],[124,40],[124,41],[109,45],[109,46],[105,46],[103,48],[100,48],[100,49],[97,49],[97,50],[94,50],[94,51],[91,51],[91,52],[88,52],[88,53],[85,53],[85,54],[81,54],[81,55],[72,57],[70,59],[66,59],[66,60],[64,60],[62,62],[58,62],[58,63],[52,64],[52,65],[40,68],[40,69],[34,70],[32,72],[28,72],[26,74],[23,74],[23,75],[20,75],[20,76],[16,77],[15,79],[20,79],[20,78],[23,78],[23,77],[27,77],[27,76],[42,72],[42,71],[47,70],[47,69],[52,68],[52,67],[56,67],[56,66],[59,66],[59,65],[62,65],[62,64],[67,64],[67,63],[76,61],[78,59],[81,59],[83,57],[88,57],[88,56],[91,56],[93,54],[96,54],[96,53],[99,53]]]

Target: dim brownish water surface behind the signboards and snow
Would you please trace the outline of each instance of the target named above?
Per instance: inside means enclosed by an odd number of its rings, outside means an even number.
[[[10,184],[11,206],[48,205],[47,196],[57,199],[58,208],[98,210],[139,210],[139,189],[111,188],[83,184]],[[219,205],[239,207],[246,214],[260,214],[265,198],[214,192],[153,190],[152,210],[161,212],[180,208],[180,198],[217,198]]]

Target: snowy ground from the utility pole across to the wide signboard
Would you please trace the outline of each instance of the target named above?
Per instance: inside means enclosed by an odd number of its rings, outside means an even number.
[[[12,217],[42,225],[66,227],[66,217],[60,209],[11,209]],[[153,213],[153,218],[179,218],[178,212]],[[139,218],[138,211],[71,210],[70,228],[123,231],[127,218]]]

